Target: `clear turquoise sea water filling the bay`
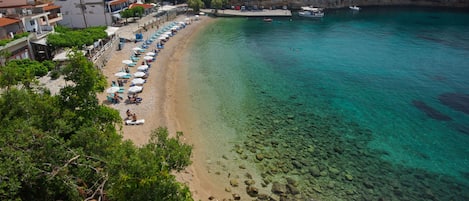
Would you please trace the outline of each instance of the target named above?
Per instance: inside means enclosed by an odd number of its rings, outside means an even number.
[[[191,52],[192,90],[218,99],[258,187],[293,178],[296,199],[469,200],[468,12],[218,19]]]

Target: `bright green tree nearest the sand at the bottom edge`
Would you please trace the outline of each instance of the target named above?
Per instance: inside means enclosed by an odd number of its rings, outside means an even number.
[[[171,170],[181,170],[190,164],[191,147],[177,138],[168,139],[168,130],[154,130],[149,143],[139,150],[124,143],[110,163],[115,200],[191,201],[186,186],[175,181]]]

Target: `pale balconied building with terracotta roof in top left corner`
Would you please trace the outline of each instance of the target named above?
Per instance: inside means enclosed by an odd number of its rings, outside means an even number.
[[[2,0],[0,2],[0,39],[9,41],[0,51],[10,53],[8,59],[50,59],[46,36],[62,20],[60,6],[52,3],[36,4],[30,0]],[[27,37],[15,38],[29,33]]]

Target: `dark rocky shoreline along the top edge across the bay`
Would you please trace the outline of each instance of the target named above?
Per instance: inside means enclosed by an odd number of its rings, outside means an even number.
[[[432,7],[453,7],[453,8],[469,8],[469,1],[466,0],[258,0],[230,1],[232,5],[247,6],[263,6],[282,7],[287,6],[288,9],[300,9],[301,6],[313,5],[323,8],[344,8],[350,5],[359,6],[432,6]]]

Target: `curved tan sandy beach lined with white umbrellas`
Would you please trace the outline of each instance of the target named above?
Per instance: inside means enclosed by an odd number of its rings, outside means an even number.
[[[183,21],[186,17],[185,15],[180,15],[169,22]],[[156,61],[151,63],[147,82],[143,85],[143,92],[139,93],[139,97],[143,98],[141,104],[127,104],[124,101],[121,101],[119,104],[112,104],[106,100],[106,93],[98,95],[100,102],[118,110],[123,119],[127,117],[127,109],[135,113],[138,119],[145,119],[143,125],[123,125],[120,130],[124,139],[131,140],[136,145],[145,144],[149,139],[151,131],[158,127],[167,127],[171,135],[174,135],[176,131],[184,132],[183,141],[194,145],[193,164],[185,171],[176,173],[176,176],[178,181],[190,187],[194,200],[207,200],[210,196],[215,198],[230,196],[223,188],[220,188],[220,186],[224,186],[221,183],[222,181],[210,178],[210,174],[206,170],[207,168],[203,166],[204,163],[196,162],[204,160],[203,156],[198,155],[198,153],[201,153],[198,150],[203,148],[198,147],[193,140],[198,135],[194,127],[190,123],[186,124],[191,122],[191,115],[187,114],[186,110],[180,109],[183,108],[180,107],[181,104],[190,104],[188,95],[185,92],[187,90],[187,78],[184,76],[187,69],[184,68],[187,66],[181,61],[181,58],[189,52],[184,50],[190,44],[191,39],[197,35],[198,31],[213,21],[214,19],[210,17],[202,16],[200,20],[194,20],[192,24],[180,30],[165,43],[165,47],[158,53]],[[157,30],[156,28],[154,27],[154,29],[143,32],[143,38],[148,38]],[[109,86],[112,81],[117,80],[114,74],[124,68],[125,65],[122,64],[122,60],[129,59],[132,48],[141,44],[141,42],[128,42],[125,43],[122,50],[113,52],[113,55],[103,68],[103,74],[106,76]],[[146,52],[152,51],[154,46],[152,44]],[[139,66],[141,62],[142,59],[137,62],[136,66]],[[136,71],[136,67],[130,67],[130,73]],[[129,88],[129,83],[125,84],[125,88]],[[127,93],[125,92],[123,95],[126,98]]]

